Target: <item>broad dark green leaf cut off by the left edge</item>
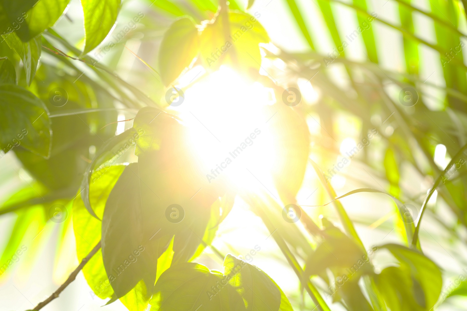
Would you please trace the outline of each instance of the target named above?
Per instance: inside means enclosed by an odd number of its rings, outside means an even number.
[[[22,147],[43,157],[50,154],[50,121],[42,101],[24,88],[0,84],[0,147]]]

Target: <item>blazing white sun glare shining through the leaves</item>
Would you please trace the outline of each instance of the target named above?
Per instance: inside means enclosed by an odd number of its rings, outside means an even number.
[[[274,91],[224,65],[209,75],[202,71],[194,68],[181,77],[176,87],[183,89],[199,73],[198,81],[184,90],[183,104],[170,110],[188,127],[187,145],[207,181],[222,176],[236,187],[248,188],[258,180],[271,183],[277,152],[268,120],[273,115],[270,106],[276,103]]]

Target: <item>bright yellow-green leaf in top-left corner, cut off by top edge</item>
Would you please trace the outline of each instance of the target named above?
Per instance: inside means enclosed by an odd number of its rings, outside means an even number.
[[[52,27],[62,15],[70,0],[39,0],[27,12],[24,26],[16,30],[16,35],[23,42],[28,42],[41,34],[45,29]]]

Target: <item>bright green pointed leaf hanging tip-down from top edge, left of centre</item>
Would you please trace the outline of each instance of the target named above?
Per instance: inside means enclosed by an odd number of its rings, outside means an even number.
[[[113,28],[120,10],[120,0],[82,0],[85,14],[85,49],[89,53]]]

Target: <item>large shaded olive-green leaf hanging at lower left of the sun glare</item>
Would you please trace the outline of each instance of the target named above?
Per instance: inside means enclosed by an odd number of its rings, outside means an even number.
[[[148,297],[152,295],[157,258],[167,249],[174,228],[179,226],[162,219],[162,206],[155,207],[156,200],[159,199],[140,178],[138,163],[125,168],[107,199],[102,216],[102,257],[118,298],[141,280]]]

